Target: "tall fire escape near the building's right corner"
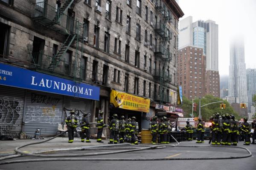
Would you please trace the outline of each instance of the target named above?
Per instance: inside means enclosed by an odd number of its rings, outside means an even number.
[[[160,45],[155,46],[155,56],[160,57],[163,61],[162,68],[159,68],[155,78],[160,81],[160,104],[163,102],[169,102],[169,95],[166,95],[166,89],[170,80],[169,73],[167,72],[167,64],[170,60],[169,50],[166,50],[167,43],[172,38],[171,33],[167,29],[168,22],[172,19],[171,14],[166,10],[161,0],[154,0],[156,10],[160,13],[160,22],[155,25],[155,32],[161,36],[162,41]]]

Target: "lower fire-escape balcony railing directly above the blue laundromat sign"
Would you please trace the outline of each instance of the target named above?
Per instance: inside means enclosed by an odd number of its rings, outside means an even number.
[[[45,55],[43,52],[32,53],[29,56],[30,68],[74,76],[75,63]]]

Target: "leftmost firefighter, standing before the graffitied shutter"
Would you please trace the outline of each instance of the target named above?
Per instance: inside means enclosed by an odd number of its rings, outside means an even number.
[[[67,124],[67,132],[68,132],[68,143],[73,143],[74,141],[74,132],[77,127],[77,119],[75,116],[75,110],[70,111],[70,116],[65,120]]]

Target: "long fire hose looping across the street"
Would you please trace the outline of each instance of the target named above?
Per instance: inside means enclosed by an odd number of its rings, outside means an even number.
[[[90,124],[98,124],[98,123],[90,123]],[[79,125],[84,126],[84,124]],[[106,125],[108,126],[108,125]],[[47,157],[47,158],[41,158],[41,159],[25,159],[25,160],[15,160],[15,161],[4,161],[0,162],[0,164],[12,164],[12,163],[23,163],[23,162],[37,162],[37,161],[162,161],[162,160],[206,160],[206,159],[236,159],[236,158],[247,158],[252,156],[252,153],[250,150],[244,147],[237,147],[232,146],[232,148],[239,148],[247,151],[247,155],[244,156],[224,156],[224,157],[185,157],[185,158],[63,158],[63,157],[76,157],[76,156],[98,156],[98,155],[107,155],[107,154],[116,154],[116,153],[127,153],[127,152],[134,152],[134,151],[141,151],[141,150],[148,150],[148,149],[161,149],[165,147],[230,147],[230,146],[180,146],[179,142],[172,136],[172,138],[175,139],[177,144],[140,144],[137,145],[138,147],[122,147],[122,148],[101,148],[105,146],[111,146],[111,145],[100,145],[100,146],[92,146],[92,147],[76,147],[76,148],[62,148],[62,149],[53,149],[53,150],[44,150],[44,151],[37,151],[37,152],[23,152],[19,149],[22,147],[26,147],[32,144],[40,144],[47,141],[50,141],[62,134],[66,133],[64,131],[63,133],[60,133],[52,138],[49,138],[44,141],[38,141],[38,142],[32,142],[30,144],[24,144],[20,147],[15,148],[15,152],[19,153],[17,155],[13,156],[6,156],[0,158],[0,160],[9,159],[9,158],[15,158],[19,156],[35,156],[35,157]],[[118,144],[118,145],[129,145],[129,144]],[[112,145],[113,146],[113,145]],[[115,145],[116,146],[116,145]],[[134,145],[133,145],[134,146]],[[110,152],[101,152],[101,153],[85,153],[85,154],[65,154],[65,155],[50,155],[50,154],[38,154],[38,153],[46,153],[46,152],[57,152],[57,151],[70,151],[70,150],[114,150],[119,149],[119,151],[110,151]],[[124,150],[120,150],[124,149]],[[51,158],[49,158],[51,157]],[[61,157],[61,158],[52,158],[52,157]]]

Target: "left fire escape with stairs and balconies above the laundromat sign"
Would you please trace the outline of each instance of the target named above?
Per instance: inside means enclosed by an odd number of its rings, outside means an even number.
[[[46,55],[44,51],[35,54],[29,49],[29,56],[32,58],[31,69],[40,72],[51,72],[65,78],[73,78],[76,82],[82,81],[82,74],[84,74],[82,71],[84,69],[81,66],[82,62],[78,60],[79,52],[81,52],[81,58],[83,54],[84,25],[75,20],[72,14],[68,12],[71,6],[80,1],[65,0],[58,8],[49,5],[46,0],[32,4],[32,20],[44,26],[45,29],[51,29],[56,34],[63,35],[66,40],[53,55]],[[79,42],[82,42],[80,50]],[[65,56],[70,46],[76,46],[75,60],[72,56],[69,56],[69,58]]]

